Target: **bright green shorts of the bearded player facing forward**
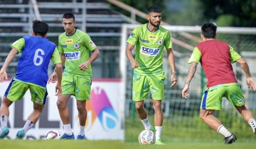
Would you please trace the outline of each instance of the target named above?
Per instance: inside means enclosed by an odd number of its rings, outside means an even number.
[[[150,89],[151,97],[155,100],[163,100],[165,73],[158,75],[133,75],[132,100],[139,102],[147,99]]]

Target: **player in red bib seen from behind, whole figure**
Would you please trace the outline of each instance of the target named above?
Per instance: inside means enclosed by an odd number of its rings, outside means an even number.
[[[203,67],[207,82],[207,89],[201,102],[200,118],[212,129],[225,136],[225,144],[235,142],[236,136],[226,129],[221,122],[212,114],[215,110],[221,110],[222,97],[229,102],[243,115],[244,120],[252,127],[256,134],[256,122],[251,111],[244,106],[244,95],[234,75],[231,63],[238,62],[244,70],[247,78],[248,88],[256,90],[255,82],[250,74],[246,61],[234,51],[227,43],[216,40],[217,26],[211,23],[201,27],[201,38],[204,42],[199,43],[189,59],[189,72],[185,88],[182,90],[182,97],[189,96],[190,81],[194,76],[199,61]]]

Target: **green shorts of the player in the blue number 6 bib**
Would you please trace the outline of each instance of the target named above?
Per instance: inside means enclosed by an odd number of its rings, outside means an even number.
[[[16,102],[17,100],[22,100],[28,89],[31,94],[32,102],[38,105],[45,104],[46,97],[48,95],[46,88],[37,84],[23,82],[21,80],[15,79],[14,77],[11,79],[4,96],[7,97],[7,99],[10,101]]]

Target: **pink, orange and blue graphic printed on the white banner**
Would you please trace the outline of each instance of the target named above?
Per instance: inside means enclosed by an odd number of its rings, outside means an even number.
[[[103,88],[96,87],[91,90],[91,100],[86,102],[86,110],[91,112],[91,120],[86,120],[86,127],[91,127],[98,117],[104,130],[110,130],[116,127],[118,116],[111,105],[109,98]],[[88,123],[91,126],[88,126]]]

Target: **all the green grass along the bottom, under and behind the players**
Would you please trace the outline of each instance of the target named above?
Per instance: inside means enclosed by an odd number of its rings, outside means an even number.
[[[217,115],[237,136],[237,141],[225,145],[223,136],[210,129],[199,116],[165,118],[161,140],[164,146],[140,145],[138,135],[144,129],[137,116],[126,118],[125,141],[90,140],[0,140],[0,149],[255,149],[256,135],[239,115]],[[230,118],[234,120],[230,120]],[[149,115],[153,125],[153,115]],[[115,134],[113,134],[115,135]]]

